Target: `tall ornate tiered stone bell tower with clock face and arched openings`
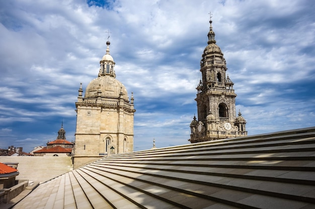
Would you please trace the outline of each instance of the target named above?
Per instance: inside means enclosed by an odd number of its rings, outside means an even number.
[[[194,117],[190,124],[191,143],[247,136],[245,119],[241,113],[236,118],[234,83],[226,75],[226,62],[214,37],[210,19],[208,45],[200,61],[202,80],[196,88],[198,121]]]

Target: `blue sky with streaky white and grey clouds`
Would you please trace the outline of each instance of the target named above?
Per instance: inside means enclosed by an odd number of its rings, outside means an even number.
[[[315,1],[289,2],[0,1],[0,148],[30,152],[62,123],[74,141],[78,89],[108,36],[134,96],[134,150],[190,143],[210,12],[248,135],[315,126]]]

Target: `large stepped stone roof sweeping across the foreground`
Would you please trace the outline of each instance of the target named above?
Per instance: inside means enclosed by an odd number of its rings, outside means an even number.
[[[315,127],[104,157],[41,184],[15,208],[50,204],[315,208]]]

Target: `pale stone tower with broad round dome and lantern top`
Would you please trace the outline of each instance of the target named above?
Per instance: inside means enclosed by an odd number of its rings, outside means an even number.
[[[133,95],[129,101],[125,86],[116,80],[110,42],[106,44],[98,78],[89,83],[84,97],[82,84],[78,90],[74,167],[100,156],[133,151]]]

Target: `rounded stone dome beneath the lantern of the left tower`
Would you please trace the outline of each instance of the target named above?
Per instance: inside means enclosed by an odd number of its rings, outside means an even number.
[[[92,80],[86,88],[85,98],[97,98],[99,90],[101,97],[118,99],[122,93],[122,98],[129,101],[126,87],[111,76],[101,76]]]

